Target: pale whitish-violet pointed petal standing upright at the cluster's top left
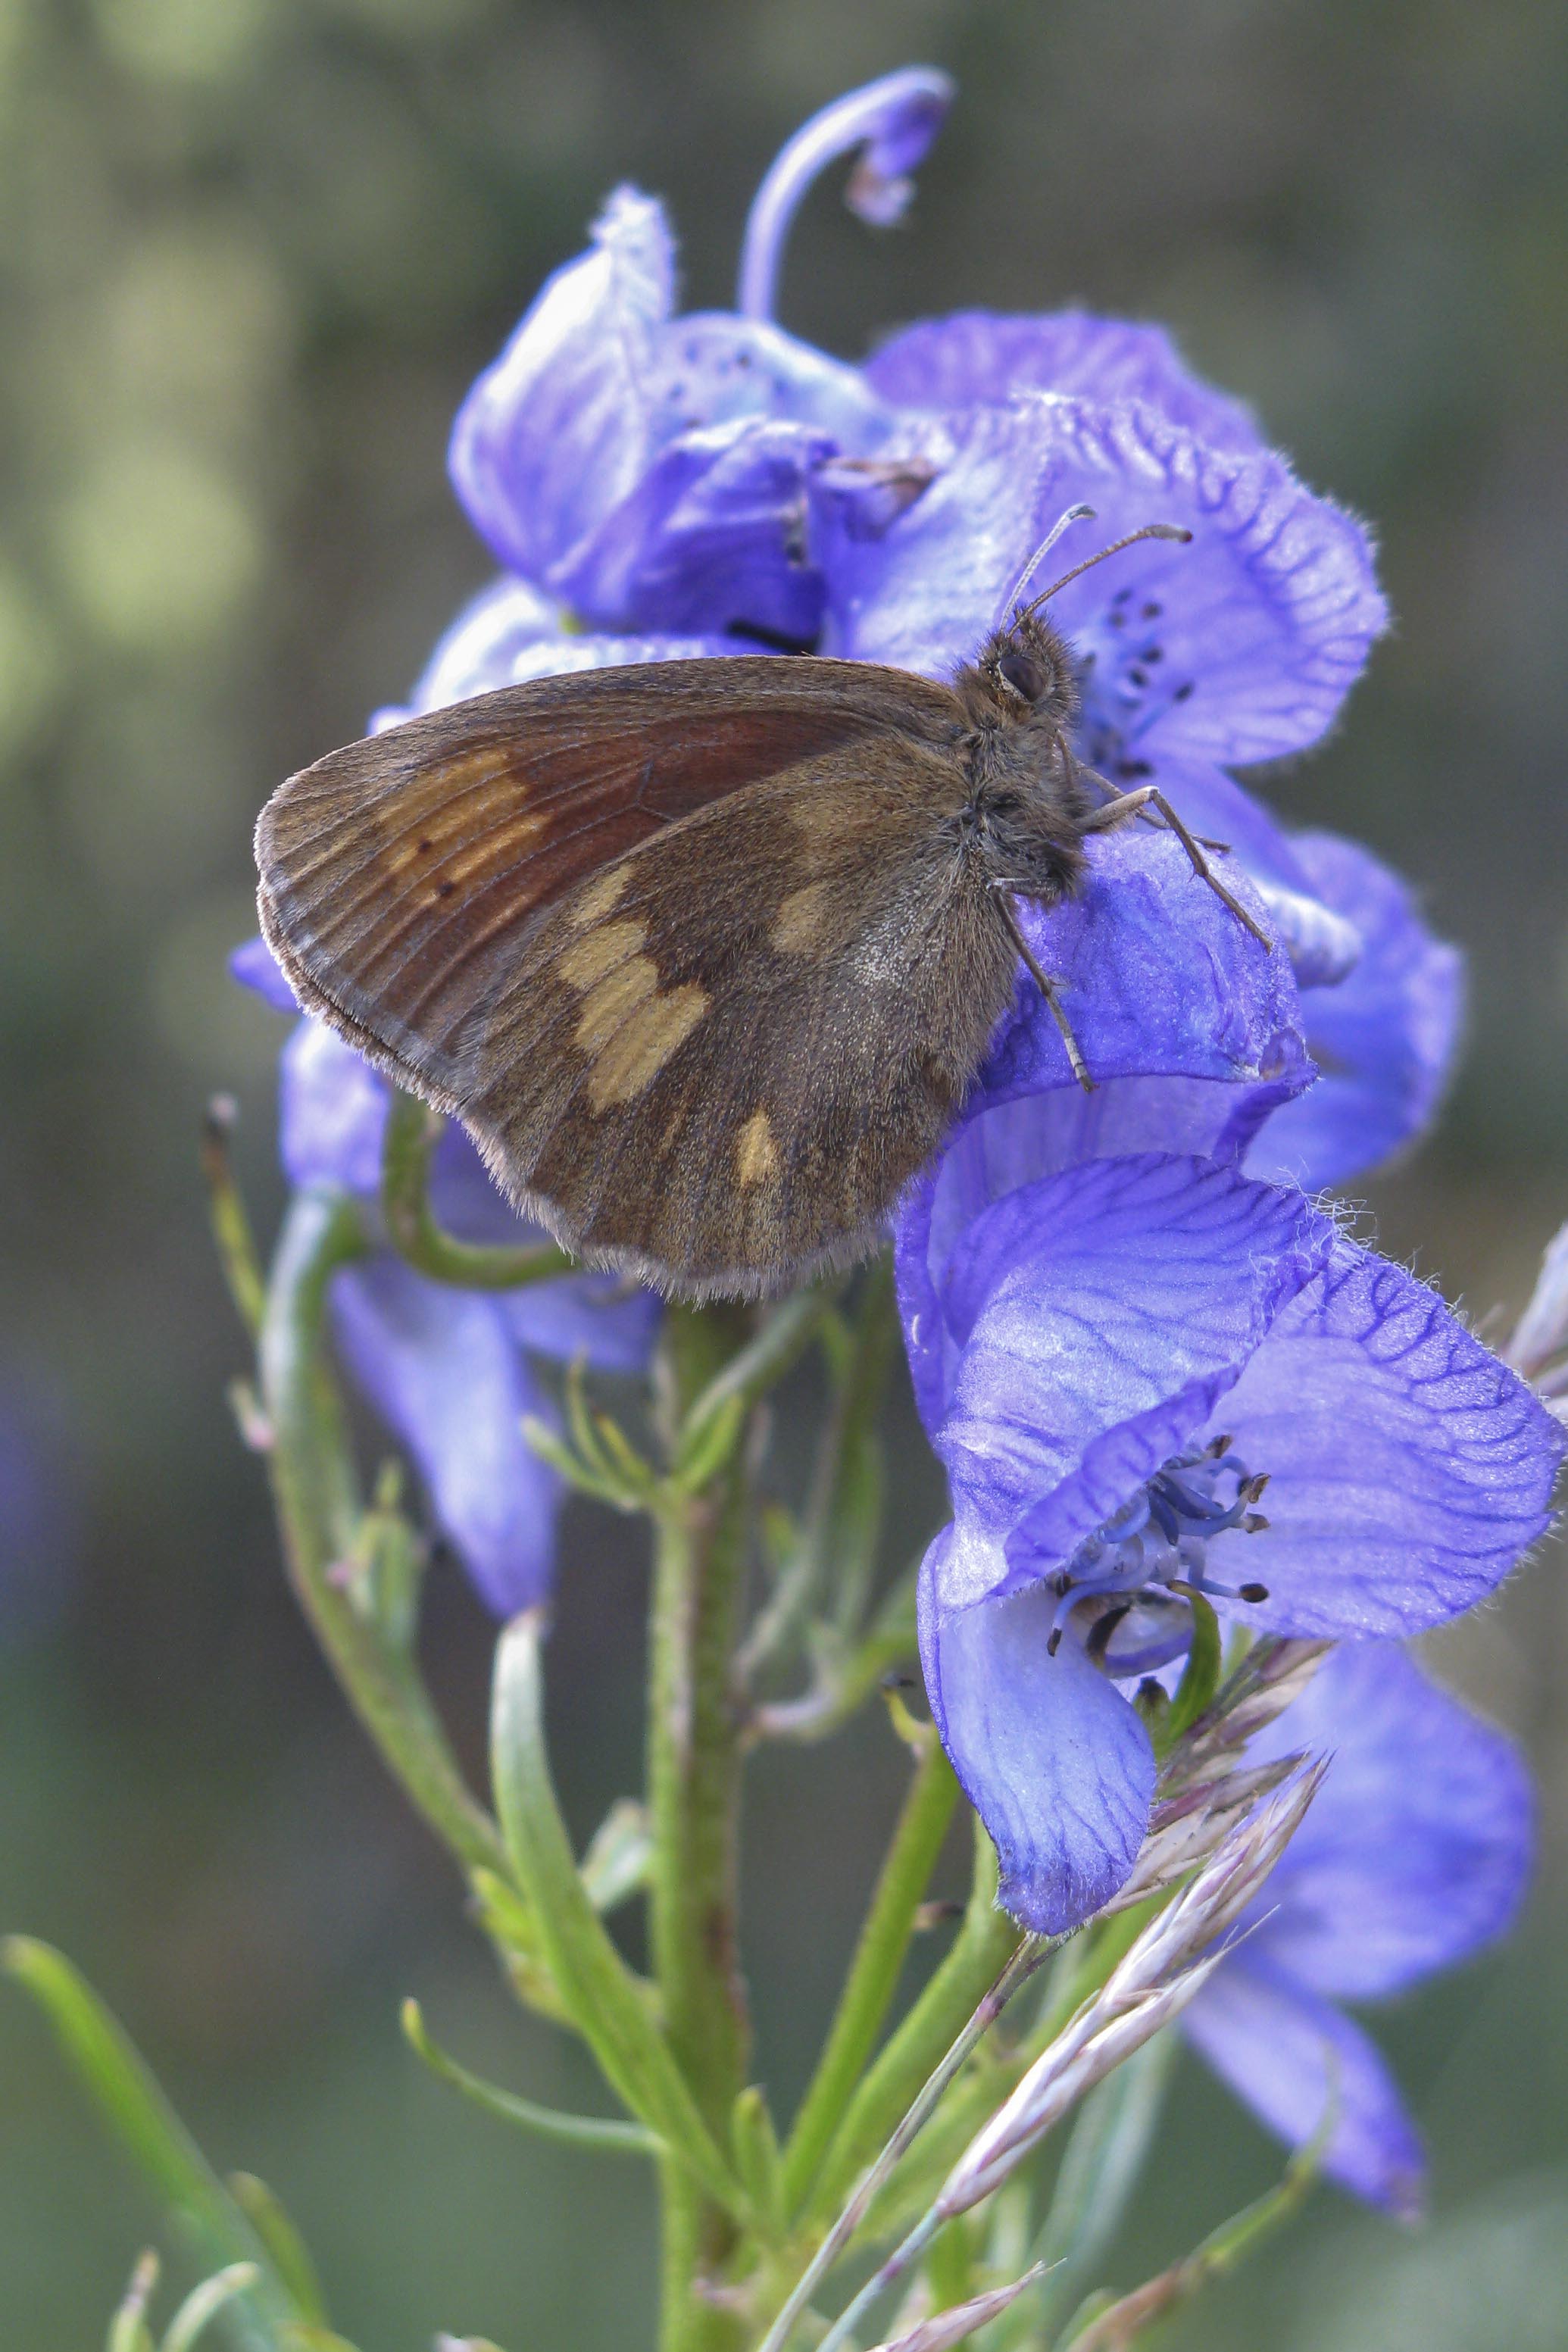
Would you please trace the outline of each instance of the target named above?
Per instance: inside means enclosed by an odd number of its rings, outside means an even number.
[[[618,188],[590,252],[555,270],[468,393],[451,428],[451,487],[508,569],[550,586],[637,485],[646,379],[672,292],[661,205]]]

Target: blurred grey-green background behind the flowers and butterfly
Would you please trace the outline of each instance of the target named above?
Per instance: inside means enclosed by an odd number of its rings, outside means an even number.
[[[630,2169],[534,2152],[404,2053],[395,2002],[536,2096],[442,1858],[381,1785],[282,1592],[223,1383],[242,1348],[195,1183],[244,1105],[263,1221],[280,1023],[223,981],[249,826],[395,699],[487,576],[447,423],[621,176],[686,296],[729,299],[795,122],[893,64],[961,101],[912,221],[820,188],[783,287],[842,353],[957,303],[1168,320],[1371,515],[1399,633],[1276,781],[1363,835],[1472,955],[1460,1084],[1373,1183],[1385,1244],[1481,1315],[1568,1214],[1568,14],[1537,0],[0,0],[0,1924],[63,1943],[223,2166],[303,2216],[367,2352],[437,2326],[649,2340]],[[936,1475],[900,1423],[910,1541]],[[574,1517],[555,1639],[588,1828],[639,1748],[635,1538]],[[1568,2340],[1568,1613],[1544,1557],[1441,1644],[1542,1785],[1514,1945],[1387,2023],[1432,2138],[1406,2241],[1324,2192],[1178,2331],[1213,2352]],[[470,1757],[487,1628],[451,1569],[430,1670]],[[799,2084],[900,1759],[867,1722],[764,1759],[748,1889],[762,2067]],[[153,2227],[21,1997],[0,2004],[0,2343],[75,2352]],[[1197,2067],[1119,2256],[1180,2253],[1274,2169]]]

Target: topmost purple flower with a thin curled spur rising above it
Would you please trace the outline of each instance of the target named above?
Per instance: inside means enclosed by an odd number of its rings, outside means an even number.
[[[611,195],[592,249],[559,268],[463,402],[451,482],[496,557],[578,616],[628,633],[811,642],[823,579],[806,487],[837,477],[853,515],[898,510],[926,470],[893,452],[898,412],[863,374],[766,318],[795,207],[832,155],[863,148],[856,209],[896,219],[936,136],[947,80],[889,75],[813,118],[762,183],[743,313],[675,315],[661,207]]]

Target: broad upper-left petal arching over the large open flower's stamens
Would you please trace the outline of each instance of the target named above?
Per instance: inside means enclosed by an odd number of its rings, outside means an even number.
[[[1152,1152],[976,1218],[940,1294],[957,1362],[933,1446],[959,1522],[1016,1538],[1009,1581],[1065,1562],[1204,1425],[1331,1235],[1300,1195]]]

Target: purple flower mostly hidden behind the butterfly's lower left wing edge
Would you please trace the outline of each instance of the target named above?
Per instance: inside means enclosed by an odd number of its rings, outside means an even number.
[[[237,953],[235,967],[277,1002],[282,981],[259,941]],[[320,1021],[301,1021],[282,1049],[280,1145],[289,1181],[336,1183],[374,1202],[386,1112],[388,1087],[369,1063]],[[461,1129],[437,1143],[430,1202],[458,1240],[543,1240],[501,1200]],[[555,1418],[531,1357],[642,1371],[658,1303],[599,1275],[465,1291],[428,1282],[381,1249],[339,1272],[331,1319],[348,1369],[409,1449],[435,1524],[482,1599],[496,1616],[543,1599],[559,1479],[522,1435],[524,1418]]]

